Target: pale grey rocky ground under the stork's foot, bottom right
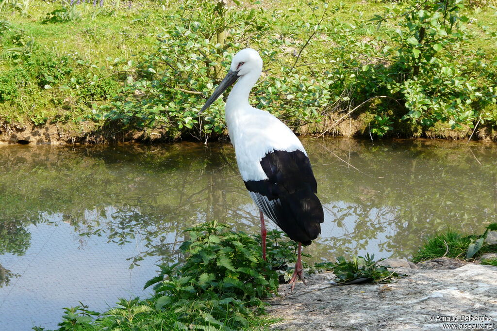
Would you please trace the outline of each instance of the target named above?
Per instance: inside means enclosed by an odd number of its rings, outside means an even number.
[[[497,330],[497,267],[440,258],[390,259],[404,277],[387,284],[331,285],[309,276],[268,303],[272,330]]]

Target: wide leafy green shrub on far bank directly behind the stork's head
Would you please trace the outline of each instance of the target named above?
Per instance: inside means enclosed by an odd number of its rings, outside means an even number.
[[[255,44],[266,64],[278,65],[261,78],[254,89],[253,103],[296,126],[316,119],[331,98],[330,80],[310,78],[303,67],[296,66],[298,59],[292,55],[287,55],[291,62],[281,61],[282,54],[274,50],[293,44],[271,35],[270,26],[281,18],[279,15],[282,13],[274,12],[270,20],[263,9],[224,9],[216,2],[184,1],[166,17],[166,22],[174,24],[165,27],[157,50],[137,66],[136,79],[93,118],[138,127],[174,127],[180,133],[194,129],[201,134],[221,134],[225,129],[223,103],[218,101],[210,107],[201,124],[198,110],[205,102],[203,98],[223,78],[229,56],[247,44]],[[296,30],[312,28],[306,27],[309,22],[295,23]],[[225,26],[230,27],[226,35],[222,33]],[[317,32],[321,27],[313,30],[313,34]]]

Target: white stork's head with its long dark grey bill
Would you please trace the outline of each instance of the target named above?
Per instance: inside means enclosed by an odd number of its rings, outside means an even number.
[[[257,74],[258,77],[261,71],[262,59],[259,56],[259,52],[251,48],[246,48],[238,52],[231,61],[230,71],[228,71],[226,77],[224,77],[223,81],[221,81],[219,86],[212,93],[198,115],[216,101],[217,98],[219,98],[228,87],[233,85],[238,78],[249,73]]]

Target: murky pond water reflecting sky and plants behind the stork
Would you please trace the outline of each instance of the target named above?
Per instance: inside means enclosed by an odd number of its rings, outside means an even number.
[[[325,208],[312,261],[410,257],[438,230],[497,221],[495,144],[303,143]],[[258,233],[257,216],[228,143],[0,146],[0,330],[55,328],[78,301],[102,311],[146,296],[185,228],[218,219]]]

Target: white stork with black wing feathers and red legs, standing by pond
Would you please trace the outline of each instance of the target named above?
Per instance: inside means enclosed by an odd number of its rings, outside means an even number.
[[[323,206],[307,153],[297,136],[266,111],[253,108],[248,94],[262,72],[262,59],[251,48],[238,52],[226,77],[199,112],[205,111],[235,81],[226,101],[226,125],[235,147],[238,169],[250,197],[259,207],[262,256],[266,259],[264,215],[299,243],[291,288],[306,284],[302,245],[321,233]]]

